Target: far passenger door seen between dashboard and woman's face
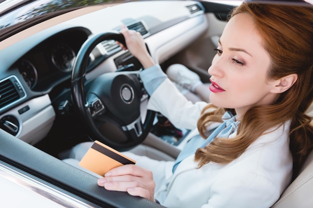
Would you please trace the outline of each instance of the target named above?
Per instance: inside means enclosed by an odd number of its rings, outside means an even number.
[[[199,74],[202,82],[209,82],[207,69],[211,65],[211,61],[216,54],[218,38],[227,23],[227,17],[230,10],[238,4],[237,1],[223,3],[213,1],[199,1],[199,8],[203,9],[204,16],[207,22],[207,29],[196,40],[189,44],[184,50],[181,50],[164,65],[180,63]]]

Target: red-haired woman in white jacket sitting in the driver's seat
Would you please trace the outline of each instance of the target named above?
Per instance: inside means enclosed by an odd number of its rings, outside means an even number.
[[[137,165],[112,169],[98,185],[168,208],[273,205],[313,147],[312,118],[304,114],[313,99],[311,25],[312,7],[243,2],[235,8],[208,69],[205,107],[179,95],[139,33],[123,27],[127,48],[145,68],[148,108],[178,128],[198,119],[203,138],[222,116],[224,122],[205,142],[191,139],[175,164],[133,155]]]

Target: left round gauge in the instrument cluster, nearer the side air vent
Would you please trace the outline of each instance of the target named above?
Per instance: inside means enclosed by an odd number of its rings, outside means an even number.
[[[24,59],[20,62],[18,71],[22,75],[28,87],[32,89],[38,79],[37,70],[34,65],[30,61]]]

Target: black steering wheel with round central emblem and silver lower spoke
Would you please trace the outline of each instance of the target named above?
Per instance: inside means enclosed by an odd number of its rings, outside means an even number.
[[[153,125],[155,112],[148,110],[144,122],[141,121],[140,103],[144,88],[139,71],[103,73],[84,92],[89,54],[104,40],[115,40],[126,46],[123,35],[117,32],[103,32],[88,38],[73,64],[71,96],[91,140],[126,151],[145,139]]]

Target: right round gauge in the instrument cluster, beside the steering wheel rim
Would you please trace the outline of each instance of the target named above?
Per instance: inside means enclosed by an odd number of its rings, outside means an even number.
[[[74,50],[65,43],[59,43],[52,49],[52,63],[62,72],[72,69],[75,60]]]

